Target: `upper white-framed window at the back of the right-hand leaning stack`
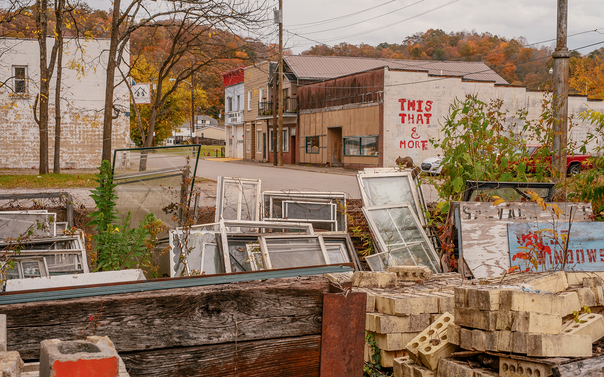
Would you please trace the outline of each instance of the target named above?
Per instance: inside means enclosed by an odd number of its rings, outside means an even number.
[[[426,224],[411,173],[357,174],[356,177],[364,206],[409,203],[420,223]]]

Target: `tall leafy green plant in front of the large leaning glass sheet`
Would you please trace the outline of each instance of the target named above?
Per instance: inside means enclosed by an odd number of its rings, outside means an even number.
[[[97,234],[92,236],[97,252],[94,259],[95,271],[122,270],[124,268],[144,268],[150,274],[156,273],[153,265],[153,250],[158,243],[157,235],[164,230],[164,224],[153,214],[147,214],[137,228],[130,228],[132,214],[128,211],[123,220],[115,209],[117,195],[111,163],[101,162],[95,182],[98,187],[90,195],[96,204],[96,211],[89,217],[93,220]]]

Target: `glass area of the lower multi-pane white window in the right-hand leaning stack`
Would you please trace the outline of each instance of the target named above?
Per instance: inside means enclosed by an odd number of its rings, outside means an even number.
[[[387,250],[399,258],[397,264],[408,264],[428,266],[434,273],[439,273],[439,265],[436,257],[432,255],[422,231],[417,227],[408,207],[369,209],[371,220],[376,226],[377,233],[384,241]],[[421,244],[408,249],[401,249],[411,244]],[[395,259],[396,259],[395,258]]]

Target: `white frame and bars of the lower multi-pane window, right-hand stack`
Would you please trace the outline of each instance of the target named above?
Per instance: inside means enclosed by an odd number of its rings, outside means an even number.
[[[420,235],[422,236],[423,241],[428,246],[428,250],[426,250],[425,246],[424,246],[424,250],[426,251],[426,256],[428,256],[428,259],[431,261],[432,266],[427,266],[427,267],[431,268],[431,270],[434,271],[434,273],[440,273],[441,272],[440,258],[437,255],[437,253],[435,252],[434,246],[432,246],[432,243],[430,242],[428,235],[426,235],[426,232],[423,230],[423,226],[420,223],[419,219],[417,218],[416,214],[414,213],[413,207],[409,203],[385,204],[383,206],[364,206],[362,208],[363,214],[365,215],[365,218],[367,219],[367,224],[369,226],[369,229],[371,230],[371,233],[373,234],[374,244],[377,245],[377,250],[379,250],[381,253],[389,252],[391,250],[389,247],[392,247],[392,246],[394,246],[394,247],[411,246],[411,244],[417,243],[417,241],[413,241],[413,242],[405,241],[405,237],[403,237],[402,233],[400,233],[400,230],[402,230],[402,227],[400,226],[400,224],[397,224],[394,221],[394,218],[392,217],[390,212],[388,212],[388,215],[390,216],[391,225],[393,226],[394,230],[396,230],[396,232],[398,233],[399,239],[402,242],[397,242],[394,245],[390,245],[390,244],[387,245],[386,242],[384,241],[384,239],[382,238],[380,229],[379,229],[379,227],[377,227],[377,224],[375,223],[373,216],[371,215],[371,212],[381,211],[384,209],[389,210],[389,209],[398,209],[398,208],[408,209],[409,213],[411,214],[411,218],[413,220],[414,226],[416,228],[416,229],[410,229],[410,230],[417,230],[420,233]]]

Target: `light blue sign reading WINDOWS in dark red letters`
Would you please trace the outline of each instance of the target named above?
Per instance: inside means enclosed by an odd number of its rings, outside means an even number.
[[[507,224],[510,271],[604,271],[604,223]],[[568,239],[566,254],[563,252]]]

